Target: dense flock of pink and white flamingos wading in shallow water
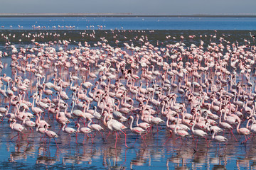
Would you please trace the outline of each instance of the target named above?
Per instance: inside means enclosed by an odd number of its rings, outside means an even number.
[[[145,135],[167,130],[169,138],[196,140],[197,147],[198,139],[207,146],[209,140],[227,145],[231,138],[246,144],[256,133],[250,79],[256,47],[247,40],[240,45],[215,32],[218,43],[208,45],[199,38],[198,45],[186,46],[181,36],[180,42],[160,47],[142,35],[139,46],[132,41],[111,46],[103,37],[91,45],[33,39],[17,47],[11,36],[1,35],[6,46],[0,57],[11,57],[11,74],[0,77],[0,113],[17,140],[33,142],[28,135],[41,133],[41,142],[53,139],[58,148],[60,135],[77,144],[80,137],[93,144],[114,135],[114,147],[123,137],[123,145],[131,147],[127,134],[133,133],[146,147]]]

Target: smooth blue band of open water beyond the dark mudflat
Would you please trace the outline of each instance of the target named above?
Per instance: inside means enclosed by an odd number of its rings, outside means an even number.
[[[0,29],[255,30],[255,17],[11,17]]]

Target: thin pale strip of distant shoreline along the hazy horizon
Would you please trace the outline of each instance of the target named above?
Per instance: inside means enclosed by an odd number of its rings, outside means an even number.
[[[256,17],[256,14],[0,13],[0,17]]]

